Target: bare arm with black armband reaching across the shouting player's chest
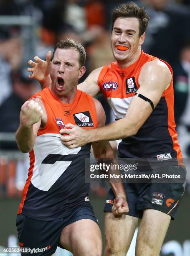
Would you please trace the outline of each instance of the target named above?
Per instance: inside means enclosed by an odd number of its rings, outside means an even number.
[[[147,62],[139,74],[138,83],[140,87],[137,93],[151,100],[155,108],[164,90],[170,86],[171,79],[172,74],[165,63],[158,59]],[[68,148],[75,148],[93,141],[111,141],[133,136],[151,113],[150,103],[134,96],[124,118],[94,130],[86,131],[79,127],[64,129],[69,136],[63,137],[63,143]],[[66,126],[70,128],[69,124]]]

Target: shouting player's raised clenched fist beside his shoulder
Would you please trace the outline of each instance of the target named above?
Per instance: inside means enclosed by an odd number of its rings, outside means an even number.
[[[38,123],[43,115],[43,110],[38,102],[33,100],[26,101],[20,112],[20,123],[24,126],[31,126],[35,123]]]

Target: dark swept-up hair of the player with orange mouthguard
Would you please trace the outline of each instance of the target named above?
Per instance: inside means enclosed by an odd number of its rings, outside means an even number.
[[[149,21],[149,15],[144,10],[144,7],[139,7],[133,2],[120,4],[117,8],[114,8],[112,14],[112,30],[114,22],[118,18],[137,18],[139,20],[139,36],[146,31]]]

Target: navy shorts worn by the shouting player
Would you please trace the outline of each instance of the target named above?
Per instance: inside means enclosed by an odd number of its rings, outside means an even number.
[[[30,248],[32,255],[51,255],[55,253],[57,246],[63,248],[59,243],[63,228],[82,219],[94,220],[98,224],[90,203],[78,208],[67,217],[51,221],[35,220],[19,214],[16,219],[19,245]]]

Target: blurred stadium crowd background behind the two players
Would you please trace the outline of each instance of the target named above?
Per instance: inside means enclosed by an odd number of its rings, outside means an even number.
[[[14,133],[20,107],[40,90],[28,79],[28,60],[45,59],[56,41],[71,37],[87,51],[85,77],[113,61],[110,49],[111,10],[120,0],[0,0],[0,246],[16,246],[15,218],[27,178],[28,154],[21,154]],[[182,153],[190,156],[190,0],[134,1],[147,9],[150,20],[143,45],[145,52],[168,61],[174,71],[175,115]],[[82,81],[82,80],[81,80]],[[113,121],[104,98],[106,123]],[[115,143],[114,150],[117,154]],[[93,154],[92,154],[93,156]],[[187,187],[175,222],[172,222],[161,255],[190,256],[190,164]],[[102,211],[107,184],[93,184],[90,200],[104,226]],[[162,225],[162,223],[160,223]],[[5,255],[5,254],[4,254]],[[14,254],[15,255],[15,254]],[[58,255],[71,255],[56,251]],[[134,256],[134,243],[127,256]]]

